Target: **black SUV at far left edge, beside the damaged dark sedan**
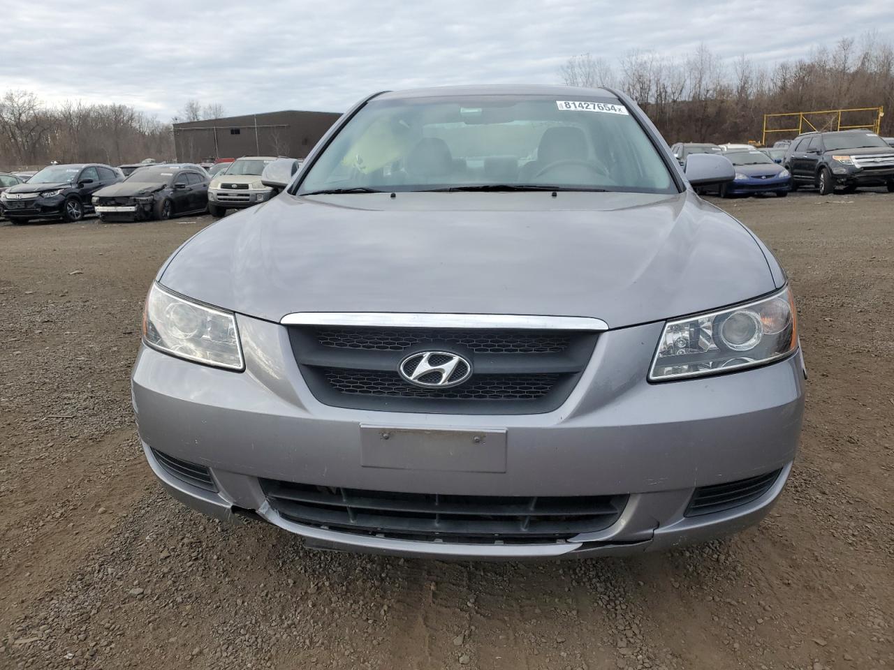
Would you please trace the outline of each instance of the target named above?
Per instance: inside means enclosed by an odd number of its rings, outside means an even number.
[[[50,165],[28,183],[4,190],[0,207],[13,223],[57,217],[77,222],[93,211],[90,197],[94,191],[123,179],[122,173],[109,165]]]

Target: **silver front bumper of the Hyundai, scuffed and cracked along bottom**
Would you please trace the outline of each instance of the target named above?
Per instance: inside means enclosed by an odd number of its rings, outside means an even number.
[[[569,399],[542,415],[419,415],[325,406],[300,378],[286,329],[239,316],[245,373],[141,348],[132,376],[139,434],[164,487],[218,518],[250,510],[308,545],[412,556],[519,558],[664,549],[757,523],[780,495],[804,406],[797,355],[740,373],[650,384],[662,324],[603,333]],[[363,465],[360,425],[505,429],[505,472]],[[173,477],[150,448],[207,466],[216,491]],[[781,470],[760,498],[685,515],[696,487]],[[628,494],[610,527],[546,544],[402,540],[293,523],[259,478],[319,486],[466,496]]]

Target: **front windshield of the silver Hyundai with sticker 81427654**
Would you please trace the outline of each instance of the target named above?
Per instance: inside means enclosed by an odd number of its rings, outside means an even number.
[[[645,131],[616,100],[444,96],[364,106],[298,195],[500,187],[677,192]]]

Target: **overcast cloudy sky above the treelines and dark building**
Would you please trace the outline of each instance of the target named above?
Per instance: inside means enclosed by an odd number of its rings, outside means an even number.
[[[891,0],[4,3],[0,91],[134,105],[168,120],[190,98],[226,113],[342,112],[385,88],[552,83],[570,55],[630,49],[772,62],[875,30]],[[263,8],[262,8],[263,7]]]

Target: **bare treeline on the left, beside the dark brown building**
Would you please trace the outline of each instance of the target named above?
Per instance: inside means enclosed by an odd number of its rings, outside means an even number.
[[[223,116],[219,104],[190,100],[175,121]],[[43,105],[29,91],[0,97],[0,170],[38,168],[58,163],[138,163],[144,158],[173,159],[171,123],[130,105]]]

